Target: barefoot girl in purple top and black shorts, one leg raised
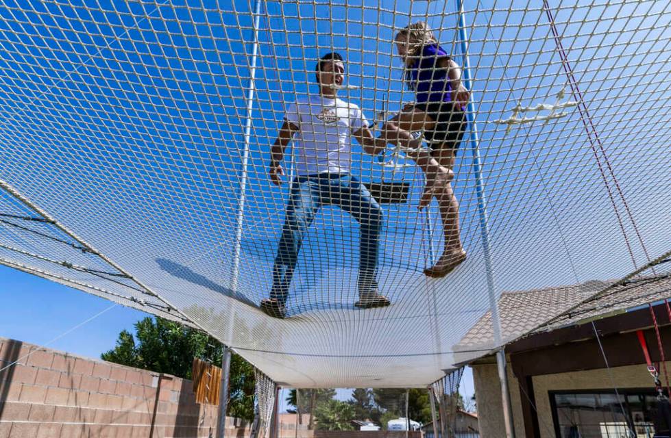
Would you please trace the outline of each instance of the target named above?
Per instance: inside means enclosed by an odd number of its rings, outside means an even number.
[[[415,91],[415,104],[406,105],[387,123],[387,137],[395,131],[400,142],[419,146],[411,132],[424,131],[431,151],[412,158],[426,170],[436,159],[440,166],[434,175],[427,172],[427,183],[420,208],[435,196],[438,201],[445,247],[434,266],[424,270],[432,277],[446,276],[466,259],[459,235],[459,203],[452,190],[454,157],[466,130],[465,105],[469,92],[461,83],[461,68],[443,50],[426,23],[418,22],[402,29],[394,38],[402,57],[408,88]]]

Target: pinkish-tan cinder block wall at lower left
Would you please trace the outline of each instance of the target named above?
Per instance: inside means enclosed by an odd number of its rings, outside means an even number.
[[[0,337],[0,438],[214,437],[217,407],[192,383]],[[249,437],[227,418],[226,436]],[[211,435],[210,435],[211,433]]]

